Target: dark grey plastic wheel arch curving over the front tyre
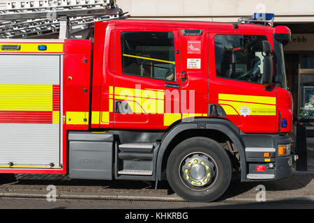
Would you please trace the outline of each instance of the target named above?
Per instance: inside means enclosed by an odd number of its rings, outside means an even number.
[[[186,137],[185,133],[193,131],[195,134],[200,132],[205,133],[220,133],[219,136],[227,136],[232,143],[237,147],[240,156],[240,166],[241,166],[241,180],[246,179],[246,155],[245,147],[243,142],[239,137],[239,128],[235,126],[232,122],[227,121],[224,118],[195,118],[191,122],[181,122],[174,125],[163,137],[156,160],[156,178],[161,180],[161,174],[163,169],[163,164],[167,160],[168,155],[171,153],[175,145],[179,144],[181,141],[188,139],[190,137],[202,136],[202,135],[191,135]],[[204,135],[204,137],[208,137]],[[211,138],[211,137],[209,137]],[[215,139],[214,139],[215,140]]]

